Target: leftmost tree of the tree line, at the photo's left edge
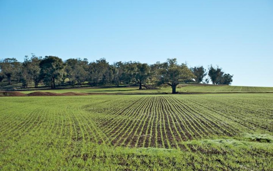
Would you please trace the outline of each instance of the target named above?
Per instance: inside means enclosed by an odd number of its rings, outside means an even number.
[[[1,73],[9,84],[11,84],[12,80],[16,80],[17,82],[20,80],[21,65],[15,58],[6,58],[0,61]]]

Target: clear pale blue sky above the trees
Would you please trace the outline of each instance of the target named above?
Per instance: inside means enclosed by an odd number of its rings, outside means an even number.
[[[54,55],[219,65],[273,87],[273,1],[0,0],[0,58]]]

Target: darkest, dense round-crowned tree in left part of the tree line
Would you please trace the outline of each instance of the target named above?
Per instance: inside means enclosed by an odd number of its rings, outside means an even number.
[[[40,68],[40,75],[43,82],[51,86],[52,89],[55,89],[55,81],[62,78],[65,68],[62,59],[55,56],[45,56],[40,62]]]

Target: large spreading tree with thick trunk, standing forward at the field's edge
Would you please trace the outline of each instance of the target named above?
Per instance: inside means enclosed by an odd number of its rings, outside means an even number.
[[[167,59],[166,62],[161,63],[158,73],[158,84],[171,86],[172,94],[177,93],[176,86],[179,84],[179,81],[196,78],[185,63],[179,65],[175,58]]]

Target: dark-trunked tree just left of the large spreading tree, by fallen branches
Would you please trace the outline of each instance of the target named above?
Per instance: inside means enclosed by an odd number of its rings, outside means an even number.
[[[142,89],[142,83],[145,82],[149,76],[150,76],[150,72],[151,72],[151,68],[147,63],[135,63],[136,65],[136,74],[135,74],[135,78],[136,81],[139,83],[139,89]]]

